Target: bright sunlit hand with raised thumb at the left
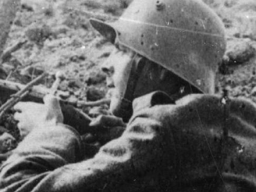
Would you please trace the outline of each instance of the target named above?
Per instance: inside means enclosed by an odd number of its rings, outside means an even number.
[[[44,104],[19,102],[14,106],[14,109],[17,111],[14,114],[14,119],[19,122],[17,126],[22,138],[34,128],[63,123],[60,103],[52,95],[44,97]]]

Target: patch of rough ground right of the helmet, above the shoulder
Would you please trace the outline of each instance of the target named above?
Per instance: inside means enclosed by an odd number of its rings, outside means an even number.
[[[220,65],[221,87],[230,86],[231,96],[243,96],[255,101],[253,93],[256,80],[256,2],[253,0],[204,0],[204,2],[214,9],[225,24],[228,44],[224,62]]]

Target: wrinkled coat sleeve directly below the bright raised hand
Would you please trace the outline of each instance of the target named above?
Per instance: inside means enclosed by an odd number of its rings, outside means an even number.
[[[79,159],[81,151],[80,135],[72,127],[58,124],[35,128],[2,165],[1,191],[32,191],[56,168]]]

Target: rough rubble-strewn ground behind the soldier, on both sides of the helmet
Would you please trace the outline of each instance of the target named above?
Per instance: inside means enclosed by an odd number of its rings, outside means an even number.
[[[112,45],[93,30],[88,18],[113,21],[132,0],[19,1],[2,51],[20,46],[2,58],[0,78],[9,75],[9,80],[26,84],[43,71],[64,70],[68,80],[60,88],[75,93],[75,98],[65,93],[66,99],[104,97],[107,90],[100,65]],[[219,64],[220,84],[230,85],[232,96],[255,100],[256,1],[203,1],[221,17],[226,29],[228,45]]]

